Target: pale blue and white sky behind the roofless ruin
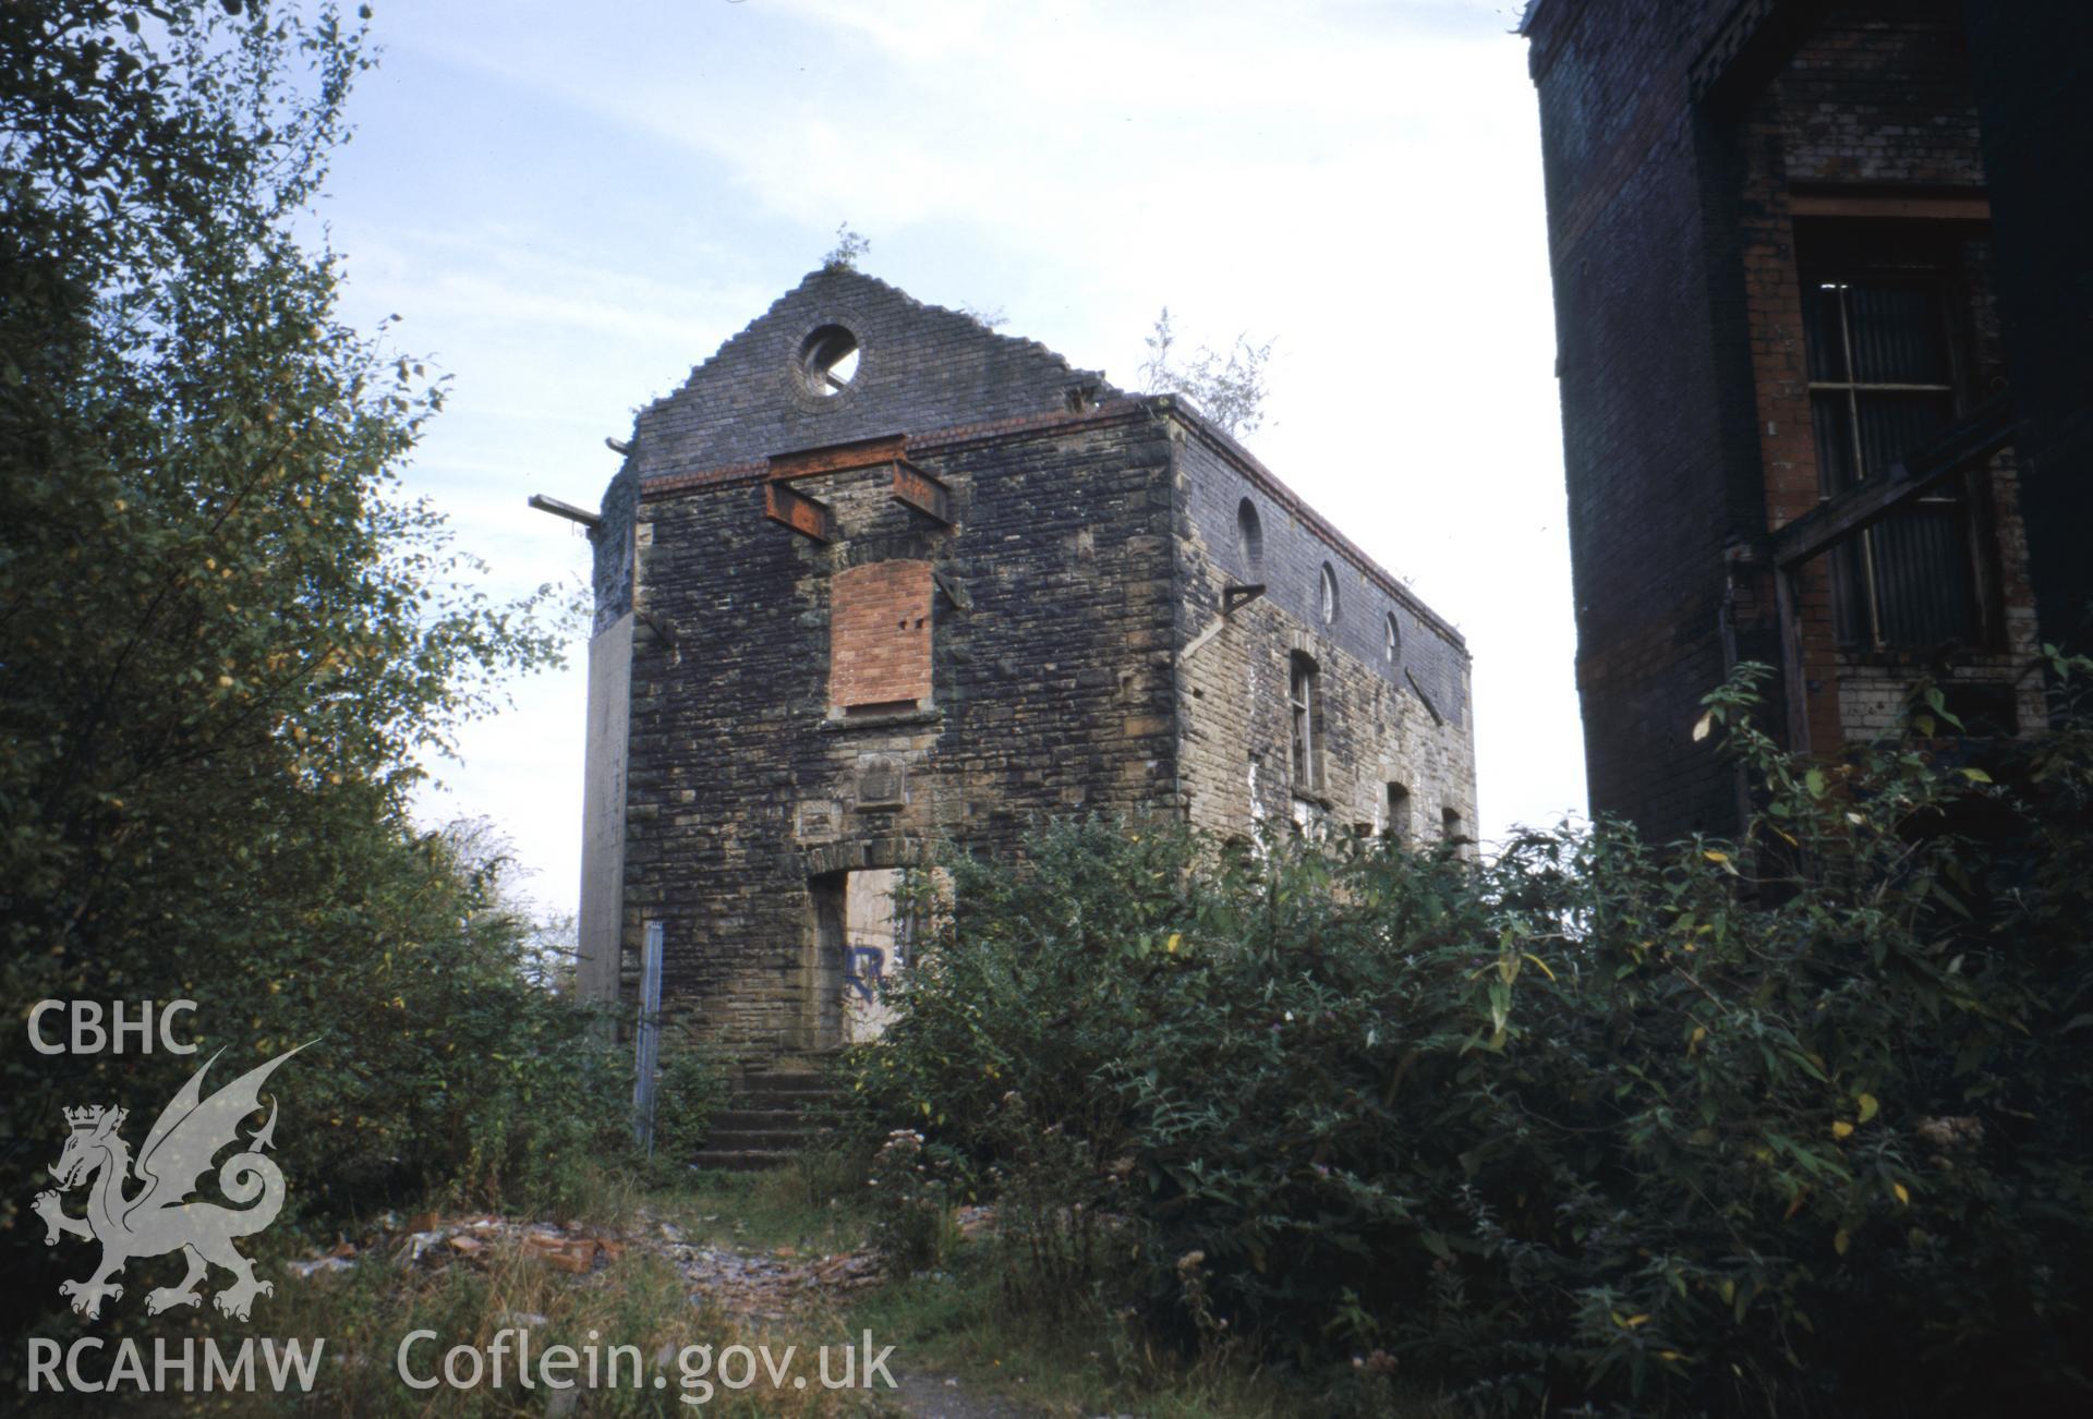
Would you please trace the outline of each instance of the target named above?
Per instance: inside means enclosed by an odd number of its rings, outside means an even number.
[[[1139,385],[1275,339],[1250,448],[1467,636],[1480,827],[1584,806],[1540,144],[1517,4],[381,0],[320,211],[343,312],[452,377],[406,473],[490,592],[580,578],[605,435],[820,264]],[[573,910],[584,655],[437,764]]]

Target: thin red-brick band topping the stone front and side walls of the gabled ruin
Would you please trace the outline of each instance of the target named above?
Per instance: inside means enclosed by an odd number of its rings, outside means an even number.
[[[923,433],[908,435],[908,448],[913,450],[950,450],[965,444],[988,444],[1005,437],[1028,437],[1038,433],[1057,433],[1076,427],[1099,427],[1111,423],[1126,423],[1141,416],[1164,416],[1176,419],[1189,433],[1195,433],[1201,442],[1218,452],[1237,473],[1247,477],[1258,490],[1262,490],[1273,502],[1281,504],[1298,517],[1316,538],[1323,540],[1333,553],[1369,582],[1379,586],[1392,599],[1396,599],[1411,615],[1430,626],[1448,647],[1453,647],[1463,663],[1473,661],[1473,653],[1467,649],[1467,636],[1463,636],[1446,617],[1427,607],[1423,599],[1417,596],[1396,573],[1388,571],[1373,557],[1363,553],[1356,542],[1337,532],[1335,525],[1321,513],[1316,513],[1298,492],[1287,488],[1287,483],[1264,467],[1256,454],[1237,444],[1229,433],[1218,429],[1206,414],[1201,414],[1191,402],[1172,393],[1132,393],[1120,396],[1107,404],[1093,410],[1072,412],[1072,410],[1051,410],[1042,414],[1023,414],[1013,419],[990,419],[984,423],[963,423],[944,429],[927,429]],[[787,450],[781,450],[787,452]],[[689,469],[682,473],[657,473],[655,477],[640,479],[640,498],[661,498],[674,492],[687,492],[695,488],[739,488],[745,483],[760,483],[770,469],[768,458],[749,458],[739,463],[722,463],[710,469]]]

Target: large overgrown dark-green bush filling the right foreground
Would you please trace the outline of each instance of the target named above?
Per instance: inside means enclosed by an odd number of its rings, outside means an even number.
[[[1007,1170],[1015,1090],[1095,1159],[1072,1193],[1128,1178],[1126,1285],[1187,1342],[1501,1413],[2083,1398],[2093,728],[1976,743],[1932,695],[1802,760],[1750,682],[1708,701],[1733,843],[1076,823],[954,862],[856,1097]]]

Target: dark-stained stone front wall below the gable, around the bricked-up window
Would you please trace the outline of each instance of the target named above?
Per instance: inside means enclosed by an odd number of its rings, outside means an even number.
[[[640,509],[626,940],[659,919],[663,996],[737,1046],[812,1042],[812,875],[1168,799],[1160,427],[1136,406],[910,458],[950,483],[957,530],[894,502],[887,469],[795,479],[835,511],[829,546],[764,521],[760,475]],[[833,576],[896,559],[969,603],[933,596],[933,707],[833,722]]]

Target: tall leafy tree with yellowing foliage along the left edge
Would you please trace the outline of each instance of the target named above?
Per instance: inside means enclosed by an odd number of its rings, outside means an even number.
[[[222,1072],[320,1038],[280,1076],[278,1145],[293,1203],[341,1201],[498,1172],[490,1128],[532,1090],[502,1042],[580,1049],[523,988],[492,873],[406,812],[417,760],[559,640],[454,584],[398,490],[442,389],[337,318],[335,255],[293,232],[368,63],[331,4],[0,6],[17,1304],[54,1296],[21,1210],[61,1105],[151,1118],[211,1049]],[[40,998],[193,998],[205,1053],[33,1055]]]

